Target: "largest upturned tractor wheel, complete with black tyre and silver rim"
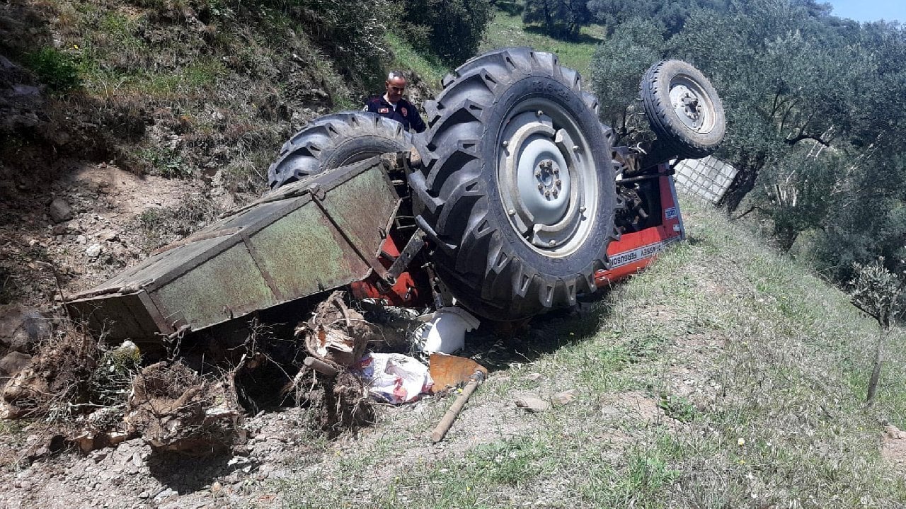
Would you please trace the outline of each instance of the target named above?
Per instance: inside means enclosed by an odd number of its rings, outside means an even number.
[[[426,101],[416,220],[441,280],[469,310],[513,321],[575,303],[607,264],[616,191],[611,131],[552,53],[476,57]]]

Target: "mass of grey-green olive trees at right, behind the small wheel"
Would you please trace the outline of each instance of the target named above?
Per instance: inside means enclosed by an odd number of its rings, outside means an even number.
[[[737,178],[721,206],[747,211],[782,250],[837,283],[853,262],[906,258],[906,30],[834,17],[814,0],[593,0],[611,35],[593,61],[602,120],[645,133],[641,72],[681,58],[714,83]],[[674,17],[671,17],[674,16]],[[802,235],[802,234],[807,235]],[[796,245],[796,243],[801,245]],[[889,262],[893,267],[902,262]]]

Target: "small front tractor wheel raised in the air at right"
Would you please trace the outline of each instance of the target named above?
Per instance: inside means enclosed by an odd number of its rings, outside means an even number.
[[[641,102],[657,135],[656,155],[698,159],[711,155],[724,139],[724,107],[708,78],[688,62],[664,60],[641,79]]]

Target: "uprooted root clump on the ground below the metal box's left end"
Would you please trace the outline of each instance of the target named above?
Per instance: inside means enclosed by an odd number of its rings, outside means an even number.
[[[243,416],[223,381],[198,376],[184,364],[159,362],[132,384],[125,421],[156,451],[217,454],[243,438]]]

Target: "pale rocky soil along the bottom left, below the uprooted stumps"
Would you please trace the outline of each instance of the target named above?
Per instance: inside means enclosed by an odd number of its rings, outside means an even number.
[[[152,454],[141,438],[118,447],[84,455],[65,450],[34,463],[16,456],[40,433],[24,443],[0,446],[11,463],[0,470],[0,506],[64,507],[226,507],[260,504],[275,499],[281,479],[293,473],[308,447],[310,432],[303,411],[288,408],[246,421],[248,438],[232,454],[192,458]]]

